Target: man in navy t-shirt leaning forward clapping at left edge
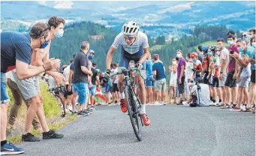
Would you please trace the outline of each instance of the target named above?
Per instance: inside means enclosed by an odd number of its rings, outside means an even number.
[[[45,23],[36,23],[29,33],[15,31],[1,33],[1,154],[20,154],[24,152],[23,148],[17,148],[6,140],[7,110],[10,98],[6,89],[5,74],[16,68],[17,78],[25,80],[45,71],[58,71],[59,59],[51,59],[38,67],[29,65],[32,58],[32,49],[40,48],[46,42],[48,35],[49,27]],[[30,92],[35,90],[34,87]],[[32,99],[32,101],[37,100]],[[34,117],[35,114],[32,119]]]

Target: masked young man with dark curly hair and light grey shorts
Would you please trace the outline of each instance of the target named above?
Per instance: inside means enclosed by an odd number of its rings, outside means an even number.
[[[45,42],[41,44],[40,48],[33,49],[31,65],[39,67],[44,65],[44,62],[49,60],[51,40],[56,37],[62,37],[64,24],[65,20],[62,18],[50,17],[47,23],[49,35],[45,38]],[[47,71],[46,73],[56,80],[58,86],[64,85],[65,77],[63,74],[60,74],[59,71]],[[25,142],[40,141],[38,137],[30,133],[32,120],[35,117],[35,114],[37,114],[38,118],[40,118],[40,123],[43,130],[43,139],[62,138],[62,134],[56,133],[55,130],[50,130],[47,125],[44,115],[43,99],[39,86],[40,76],[38,75],[27,80],[18,80],[18,77],[14,75],[14,79],[16,80],[17,86],[19,87],[20,92],[22,93],[26,102],[28,102],[28,105],[30,105],[27,112],[26,125],[22,135],[22,140]],[[35,98],[36,100],[32,101],[32,98]],[[38,110],[38,112],[35,112],[35,110]]]

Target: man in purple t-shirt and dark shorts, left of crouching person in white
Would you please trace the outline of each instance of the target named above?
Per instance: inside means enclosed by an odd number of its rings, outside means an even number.
[[[185,101],[185,68],[186,68],[186,62],[185,58],[182,57],[182,50],[178,49],[176,51],[176,56],[179,59],[178,62],[178,68],[177,68],[177,83],[179,88],[179,94],[182,95],[181,101],[179,104],[182,104],[183,101]]]

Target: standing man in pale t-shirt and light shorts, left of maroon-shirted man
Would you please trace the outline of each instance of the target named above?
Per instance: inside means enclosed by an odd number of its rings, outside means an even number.
[[[230,104],[228,104],[228,98],[227,98],[227,93],[225,92],[225,88],[224,88],[224,84],[227,80],[227,68],[228,68],[228,64],[229,64],[229,51],[227,48],[225,48],[224,45],[224,39],[223,38],[219,38],[217,40],[217,48],[221,50],[221,55],[220,55],[220,59],[221,59],[221,64],[220,64],[220,68],[219,68],[219,74],[218,74],[218,83],[219,86],[221,87],[221,91],[222,91],[222,104],[221,104],[221,108],[230,108]]]

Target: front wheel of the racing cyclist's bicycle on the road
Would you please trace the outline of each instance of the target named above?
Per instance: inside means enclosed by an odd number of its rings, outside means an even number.
[[[139,141],[142,139],[141,133],[141,121],[140,121],[140,112],[137,107],[137,103],[134,101],[134,92],[128,86],[125,86],[125,98],[127,104],[128,115],[131,119],[131,125],[134,129],[135,136]]]

